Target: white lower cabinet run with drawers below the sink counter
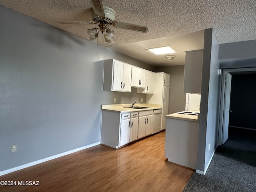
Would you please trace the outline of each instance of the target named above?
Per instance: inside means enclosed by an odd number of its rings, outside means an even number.
[[[102,110],[100,143],[118,148],[152,134],[153,110],[120,113]]]

